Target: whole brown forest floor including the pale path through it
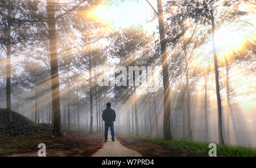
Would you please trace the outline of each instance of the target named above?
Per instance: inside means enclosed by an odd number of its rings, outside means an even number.
[[[104,132],[67,131],[64,136],[0,137],[0,156],[38,156],[38,144],[46,144],[46,156],[205,156],[116,133],[116,141],[104,142]]]

